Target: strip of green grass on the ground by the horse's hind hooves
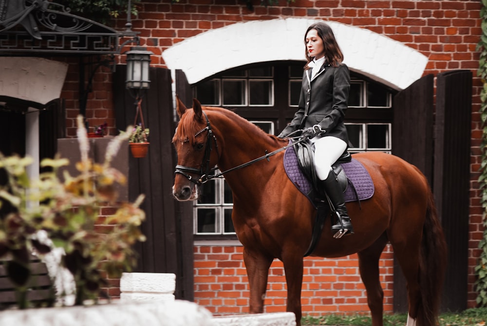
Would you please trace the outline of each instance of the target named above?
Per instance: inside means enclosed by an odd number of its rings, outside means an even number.
[[[384,315],[384,326],[405,326],[407,314]],[[439,316],[438,326],[486,326],[487,308],[472,308],[460,313],[442,313]],[[346,325],[371,326],[369,316],[364,315],[338,315],[304,316],[302,325]]]

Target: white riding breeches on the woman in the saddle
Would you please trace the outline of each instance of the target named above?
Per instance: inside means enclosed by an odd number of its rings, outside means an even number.
[[[311,139],[315,144],[315,169],[319,180],[326,180],[332,164],[347,149],[347,143],[333,136],[315,137]]]

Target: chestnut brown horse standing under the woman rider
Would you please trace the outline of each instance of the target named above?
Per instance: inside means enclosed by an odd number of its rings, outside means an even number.
[[[244,245],[244,263],[250,283],[250,312],[263,311],[269,267],[283,262],[287,283],[287,311],[301,319],[303,255],[312,237],[316,210],[287,177],[283,151],[268,160],[240,166],[287,145],[227,109],[202,107],[193,101],[187,109],[177,100],[179,126],[172,142],[178,154],[173,195],[178,200],[197,197],[217,165],[233,192],[232,220]],[[327,219],[313,256],[358,254],[367,290],[373,326],[382,326],[383,290],[379,257],[389,241],[406,277],[409,317],[407,326],[433,326],[439,310],[446,267],[446,243],[431,190],[413,165],[390,154],[353,156],[375,184],[371,199],[347,203],[355,234],[335,239]],[[234,167],[239,167],[233,169]]]

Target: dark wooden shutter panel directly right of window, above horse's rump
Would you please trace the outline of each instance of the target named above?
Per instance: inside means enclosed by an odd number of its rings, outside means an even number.
[[[432,181],[433,75],[400,91],[393,99],[393,154],[416,165]],[[394,311],[408,311],[406,280],[394,260]]]

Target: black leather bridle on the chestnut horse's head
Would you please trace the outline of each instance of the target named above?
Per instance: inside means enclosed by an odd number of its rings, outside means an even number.
[[[203,111],[203,114],[205,115],[206,119],[206,127],[198,131],[194,136],[197,137],[206,130],[208,130],[208,135],[206,136],[206,147],[205,147],[205,156],[203,157],[203,162],[200,164],[201,168],[197,169],[194,167],[189,167],[189,166],[184,166],[184,165],[176,165],[176,171],[174,171],[174,174],[182,174],[187,178],[187,180],[196,183],[197,185],[201,185],[208,181],[209,178],[208,175],[210,172],[216,170],[216,168],[211,169],[210,168],[210,155],[211,155],[211,149],[212,149],[212,140],[215,142],[215,147],[218,148],[218,144],[216,143],[216,137],[213,134],[213,131],[211,130],[211,125],[210,121],[208,120],[208,117],[206,116],[206,113]],[[205,169],[206,167],[206,169]],[[188,173],[194,173],[200,176],[198,180],[195,180],[195,178],[191,177]]]

